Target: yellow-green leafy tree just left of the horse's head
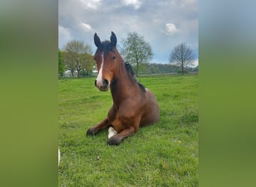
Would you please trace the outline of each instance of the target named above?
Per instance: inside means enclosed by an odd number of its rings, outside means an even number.
[[[91,67],[89,65],[92,63],[92,60],[88,60],[88,57],[92,54],[91,46],[84,44],[79,40],[71,40],[64,47],[64,63],[68,70],[71,71],[73,76],[74,71],[77,71],[77,76],[80,77],[81,70],[85,67]],[[91,67],[92,69],[92,67]]]

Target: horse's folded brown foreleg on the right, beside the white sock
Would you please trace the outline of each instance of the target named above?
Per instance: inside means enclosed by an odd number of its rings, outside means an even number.
[[[118,134],[113,135],[111,138],[109,138],[108,144],[109,145],[119,145],[124,138],[127,138],[134,134],[135,134],[134,126],[129,126],[129,128],[124,129],[123,131],[121,131]]]

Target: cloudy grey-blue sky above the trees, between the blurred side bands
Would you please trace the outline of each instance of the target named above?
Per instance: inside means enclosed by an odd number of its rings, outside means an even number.
[[[198,0],[59,0],[58,47],[82,40],[94,52],[94,33],[109,40],[111,31],[121,40],[137,32],[150,43],[152,63],[168,63],[174,46],[187,43],[198,65]]]

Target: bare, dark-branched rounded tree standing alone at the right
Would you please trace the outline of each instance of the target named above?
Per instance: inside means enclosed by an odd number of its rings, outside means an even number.
[[[184,73],[184,67],[192,64],[194,60],[194,55],[192,49],[186,43],[180,43],[174,47],[171,52],[169,62],[174,63],[181,67],[181,73]]]

